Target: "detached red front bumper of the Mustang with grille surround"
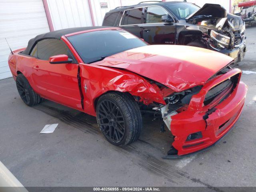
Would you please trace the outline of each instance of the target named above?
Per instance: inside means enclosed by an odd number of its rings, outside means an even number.
[[[205,150],[216,144],[234,126],[246,97],[247,86],[243,82],[238,80],[236,87],[225,98],[220,97],[206,106],[203,102],[211,88],[235,75],[238,75],[240,80],[241,71],[233,69],[210,80],[192,97],[187,110],[171,114],[170,130],[174,135],[172,147],[178,152],[164,158],[177,158]]]

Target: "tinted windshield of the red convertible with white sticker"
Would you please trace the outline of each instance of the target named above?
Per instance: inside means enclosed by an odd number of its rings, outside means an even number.
[[[129,49],[148,45],[124,30],[99,30],[67,37],[84,63],[92,63]]]

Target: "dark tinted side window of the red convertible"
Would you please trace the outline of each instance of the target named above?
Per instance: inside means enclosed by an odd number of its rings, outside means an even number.
[[[42,60],[48,60],[51,56],[65,54],[75,62],[66,44],[58,39],[44,39],[39,41],[32,49],[30,55]]]

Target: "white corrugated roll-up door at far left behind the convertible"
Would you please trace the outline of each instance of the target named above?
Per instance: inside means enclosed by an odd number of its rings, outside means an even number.
[[[26,47],[34,36],[49,32],[42,0],[0,0],[0,79],[12,76],[8,66],[10,49]]]

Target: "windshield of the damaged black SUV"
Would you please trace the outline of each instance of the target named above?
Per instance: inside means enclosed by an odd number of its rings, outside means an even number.
[[[185,20],[187,16],[200,9],[200,7],[191,3],[175,3],[167,4],[166,6],[180,20]]]

